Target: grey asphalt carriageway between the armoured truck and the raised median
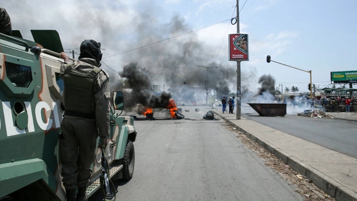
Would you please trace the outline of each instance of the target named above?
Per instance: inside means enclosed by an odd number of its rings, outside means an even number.
[[[195,108],[182,107],[185,119],[154,111],[155,120],[135,121],[134,175],[114,182],[116,200],[303,200],[223,120],[204,120],[208,109]]]

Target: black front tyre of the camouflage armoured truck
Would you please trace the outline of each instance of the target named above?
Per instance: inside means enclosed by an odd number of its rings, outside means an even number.
[[[134,144],[131,140],[128,140],[125,147],[124,158],[123,158],[123,180],[130,180],[132,174],[134,173],[134,163],[135,163],[135,150]]]

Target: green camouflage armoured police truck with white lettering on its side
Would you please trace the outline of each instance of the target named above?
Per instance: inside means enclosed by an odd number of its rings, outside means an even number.
[[[53,30],[31,30],[34,41],[0,33],[0,200],[65,200],[58,158],[63,117],[63,51]],[[120,116],[123,93],[112,94],[110,142],[105,151],[112,179],[134,170],[134,119]],[[98,142],[99,143],[99,139]],[[92,164],[89,196],[100,189],[101,150]]]

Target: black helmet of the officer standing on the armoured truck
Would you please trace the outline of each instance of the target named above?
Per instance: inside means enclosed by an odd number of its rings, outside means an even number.
[[[95,40],[84,40],[81,44],[81,54],[79,58],[93,58],[97,61],[100,66],[100,61],[102,60],[102,51],[100,50],[100,43]]]

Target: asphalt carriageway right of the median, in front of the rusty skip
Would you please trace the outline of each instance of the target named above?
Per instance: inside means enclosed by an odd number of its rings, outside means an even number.
[[[356,121],[297,115],[269,117],[259,116],[256,112],[242,114],[242,116],[333,151],[357,158]]]

